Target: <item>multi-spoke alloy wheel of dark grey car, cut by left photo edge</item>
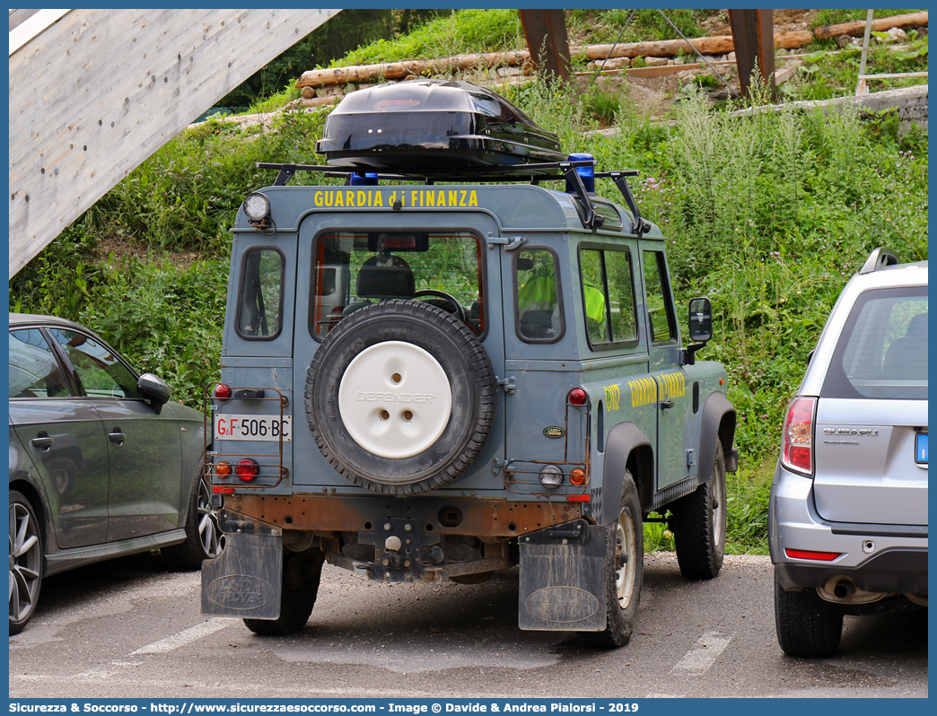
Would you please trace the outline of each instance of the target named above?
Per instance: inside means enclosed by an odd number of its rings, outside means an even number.
[[[9,491],[9,633],[20,634],[36,612],[42,586],[42,533],[29,500]]]

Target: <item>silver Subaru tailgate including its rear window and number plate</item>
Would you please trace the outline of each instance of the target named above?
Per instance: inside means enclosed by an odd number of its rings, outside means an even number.
[[[928,524],[928,290],[862,293],[816,417],[817,512],[834,522]]]

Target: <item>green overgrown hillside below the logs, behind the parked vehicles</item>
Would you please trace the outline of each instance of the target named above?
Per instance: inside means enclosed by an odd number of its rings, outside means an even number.
[[[840,289],[876,246],[927,258],[927,135],[899,136],[894,116],[862,122],[849,110],[732,117],[736,108],[689,92],[672,124],[608,99],[619,131],[605,137],[588,133],[596,124],[578,90],[533,83],[503,94],[565,150],[640,172],[632,189],[669,237],[677,303],[708,295],[714,306],[715,338],[700,357],[727,366],[739,413],[729,549],[764,550],[782,413]],[[764,101],[756,93],[751,104]],[[313,146],[327,112],[186,130],[12,279],[10,309],[93,327],[201,407],[201,385],[218,375],[227,230],[245,194],[275,176],[254,164],[322,163]],[[619,201],[610,183],[597,188]],[[671,545],[660,531],[649,539]]]

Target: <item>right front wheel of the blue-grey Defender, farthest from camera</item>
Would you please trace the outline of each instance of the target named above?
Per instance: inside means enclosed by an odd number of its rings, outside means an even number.
[[[687,579],[712,579],[725,556],[725,457],[718,440],[709,482],[670,509],[680,572]]]

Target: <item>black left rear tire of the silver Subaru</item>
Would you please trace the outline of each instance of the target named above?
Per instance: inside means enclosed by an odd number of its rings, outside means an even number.
[[[816,589],[784,591],[774,580],[774,625],[788,656],[822,658],[840,649],[842,609]]]

